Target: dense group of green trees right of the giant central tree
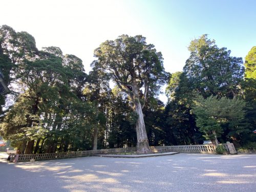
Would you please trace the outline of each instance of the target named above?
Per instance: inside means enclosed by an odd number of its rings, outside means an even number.
[[[188,50],[183,71],[172,74],[166,89],[170,126],[177,130],[185,123],[178,131],[183,143],[205,138],[255,145],[255,47],[245,65],[207,35],[191,41]]]

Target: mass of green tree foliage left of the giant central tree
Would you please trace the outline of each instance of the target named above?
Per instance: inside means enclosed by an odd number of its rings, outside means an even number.
[[[80,148],[84,139],[90,139],[88,121],[94,119],[91,104],[82,102],[86,74],[81,59],[63,56],[56,47],[37,51],[34,38],[26,32],[16,33],[8,26],[0,32],[3,54],[19,69],[14,80],[24,92],[6,113],[1,135],[16,147],[36,140],[40,152]]]

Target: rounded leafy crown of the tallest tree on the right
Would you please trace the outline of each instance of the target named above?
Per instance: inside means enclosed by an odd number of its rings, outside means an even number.
[[[233,98],[240,93],[244,68],[242,58],[231,57],[230,50],[218,48],[207,35],[190,42],[190,56],[183,71],[193,89],[204,97]]]

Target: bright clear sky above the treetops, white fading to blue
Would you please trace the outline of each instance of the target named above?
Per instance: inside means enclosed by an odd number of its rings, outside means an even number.
[[[0,25],[27,31],[37,48],[60,47],[83,60],[86,72],[101,42],[141,34],[164,57],[168,72],[182,71],[189,42],[209,34],[232,56],[256,46],[255,0],[94,0],[1,2]]]

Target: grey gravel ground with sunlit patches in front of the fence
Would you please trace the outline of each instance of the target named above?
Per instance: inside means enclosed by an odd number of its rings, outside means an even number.
[[[256,191],[256,155],[2,159],[0,191]]]

